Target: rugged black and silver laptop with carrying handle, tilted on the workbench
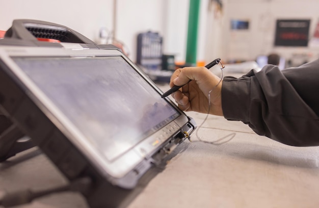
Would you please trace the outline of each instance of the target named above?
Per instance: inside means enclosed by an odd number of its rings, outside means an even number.
[[[92,180],[92,207],[125,206],[196,128],[162,94],[121,50],[62,25],[15,20],[0,40],[0,111],[70,181]]]

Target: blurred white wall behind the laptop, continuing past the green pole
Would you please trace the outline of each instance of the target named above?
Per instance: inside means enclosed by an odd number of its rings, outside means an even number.
[[[205,56],[205,27],[208,0],[201,0],[198,59]],[[184,61],[187,43],[189,0],[117,0],[116,39],[125,44],[129,58],[136,61],[137,35],[159,32],[164,37],[164,53]],[[65,25],[99,42],[101,28],[113,31],[114,0],[10,0],[0,7],[0,30],[11,27],[14,19],[37,19]]]

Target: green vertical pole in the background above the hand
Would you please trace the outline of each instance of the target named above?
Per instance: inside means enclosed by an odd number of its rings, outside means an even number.
[[[197,29],[200,0],[190,0],[185,65],[196,66]]]

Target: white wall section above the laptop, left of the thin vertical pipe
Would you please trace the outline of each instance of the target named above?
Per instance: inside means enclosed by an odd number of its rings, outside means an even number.
[[[101,27],[112,29],[112,10],[112,0],[3,1],[0,30],[10,28],[14,19],[37,19],[65,25],[94,41]]]

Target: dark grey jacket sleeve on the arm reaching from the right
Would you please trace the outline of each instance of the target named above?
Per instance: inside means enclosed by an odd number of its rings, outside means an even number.
[[[319,60],[280,71],[267,65],[224,77],[222,108],[228,120],[293,146],[319,145]]]

